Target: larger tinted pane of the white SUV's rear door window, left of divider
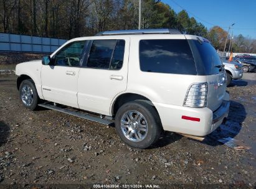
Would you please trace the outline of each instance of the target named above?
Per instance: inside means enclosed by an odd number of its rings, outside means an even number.
[[[93,40],[87,60],[89,68],[109,68],[116,40]]]

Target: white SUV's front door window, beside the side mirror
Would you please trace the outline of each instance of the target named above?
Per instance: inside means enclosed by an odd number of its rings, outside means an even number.
[[[55,54],[54,65],[77,67],[80,65],[80,55],[85,46],[85,40],[71,42]]]

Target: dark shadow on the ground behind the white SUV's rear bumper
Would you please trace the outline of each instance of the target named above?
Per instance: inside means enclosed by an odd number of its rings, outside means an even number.
[[[223,145],[218,140],[224,138],[234,138],[242,129],[242,122],[246,118],[246,111],[243,104],[230,101],[229,116],[227,122],[220,125],[214,132],[209,134],[202,143],[207,145]]]

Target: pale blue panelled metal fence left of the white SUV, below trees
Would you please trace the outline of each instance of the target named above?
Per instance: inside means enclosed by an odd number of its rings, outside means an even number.
[[[51,53],[67,40],[0,33],[0,52]]]

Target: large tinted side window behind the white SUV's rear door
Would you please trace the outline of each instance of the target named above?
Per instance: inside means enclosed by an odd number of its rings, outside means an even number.
[[[141,71],[196,75],[196,66],[187,40],[140,41]]]

